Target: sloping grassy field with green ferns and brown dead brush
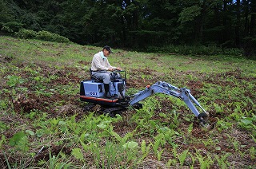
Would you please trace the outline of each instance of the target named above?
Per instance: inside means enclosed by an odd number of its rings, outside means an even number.
[[[255,168],[256,61],[113,49],[127,94],[166,81],[210,113],[156,94],[111,118],[79,100],[101,48],[0,37],[1,168]]]

